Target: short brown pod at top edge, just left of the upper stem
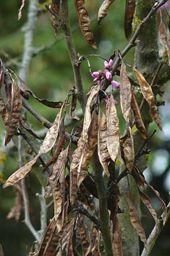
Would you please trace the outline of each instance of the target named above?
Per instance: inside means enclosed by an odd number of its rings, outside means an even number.
[[[50,9],[53,11],[53,13],[50,14],[50,20],[52,22],[52,26],[54,28],[54,34],[57,35],[59,31],[59,3],[60,0],[52,0],[52,4],[50,5]]]

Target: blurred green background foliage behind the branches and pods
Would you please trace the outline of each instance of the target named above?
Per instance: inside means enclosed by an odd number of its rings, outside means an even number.
[[[22,11],[22,18],[18,21],[18,10],[22,1],[6,0],[1,3],[0,9],[0,56],[6,67],[11,68],[18,73],[19,64],[23,53],[23,32],[22,28],[27,21],[28,1],[25,1],[25,6]],[[54,38],[54,31],[50,23],[49,13],[44,7],[45,1],[39,1],[39,17],[37,19],[33,47],[44,47],[44,51],[40,51],[33,56],[31,66],[28,72],[27,84],[33,90],[37,97],[45,98],[50,101],[64,101],[66,93],[72,88],[74,84],[73,71],[70,64],[69,55],[65,40],[63,38],[62,29],[59,30],[56,39]],[[97,43],[97,50],[88,46],[84,40],[80,28],[78,26],[78,19],[74,7],[74,1],[69,0],[70,22],[73,28],[73,38],[76,51],[80,55],[98,54],[109,59],[113,54],[114,49],[122,50],[128,43],[124,35],[124,13],[125,0],[117,0],[113,3],[109,10],[107,18],[101,23],[101,27],[97,24],[97,12],[103,1],[102,0],[86,0],[88,13],[91,17],[91,28],[94,32],[94,38]],[[47,4],[50,1],[46,1]],[[92,71],[103,69],[103,60],[99,57],[90,57],[90,64]],[[134,63],[134,49],[126,55],[125,63],[133,65]],[[83,86],[85,93],[88,92],[92,85],[92,77],[88,70],[87,62],[84,61],[81,65]],[[131,69],[128,69],[129,75],[133,76]],[[115,77],[119,81],[119,77]],[[148,168],[144,175],[150,184],[159,191],[160,196],[167,204],[169,201],[170,191],[170,94],[169,82],[164,86],[163,100],[165,105],[160,107],[160,116],[163,124],[163,132],[157,131],[151,139],[148,147],[151,149],[148,158]],[[117,98],[117,96],[116,96]],[[117,98],[118,101],[118,98]],[[29,104],[31,104],[37,112],[44,115],[50,122],[54,121],[58,110],[50,109],[32,97],[29,97]],[[77,109],[79,109],[79,105]],[[118,106],[120,108],[120,106]],[[39,133],[44,129],[31,114],[28,113],[29,122],[32,127]],[[124,122],[121,120],[121,133],[123,133]],[[66,130],[71,131],[73,126],[67,126]],[[14,171],[18,169],[18,154],[15,146],[6,148],[3,146],[3,138],[5,129],[0,120],[0,183],[6,180]],[[149,133],[151,134],[157,127],[152,123],[150,125]],[[158,130],[158,129],[157,129]],[[12,148],[12,149],[11,149]],[[39,167],[40,171],[42,170]],[[40,207],[35,193],[40,192],[40,184],[35,175],[29,175],[29,197],[32,205],[32,222],[36,229],[40,228],[39,217]],[[155,196],[146,188],[147,195],[150,196],[154,208],[161,214],[160,204]],[[5,256],[27,255],[32,245],[33,237],[27,227],[24,225],[24,214],[20,216],[19,221],[14,218],[8,219],[8,213],[14,205],[15,189],[12,187],[2,189],[0,187],[0,243],[2,244]],[[53,210],[49,208],[48,217],[52,217]],[[142,205],[142,222],[145,226],[146,234],[148,235],[154,226],[154,221],[149,216],[147,209]],[[170,226],[169,222],[160,235],[158,242],[152,251],[152,256],[168,255],[170,249]],[[143,245],[141,245],[141,248]]]

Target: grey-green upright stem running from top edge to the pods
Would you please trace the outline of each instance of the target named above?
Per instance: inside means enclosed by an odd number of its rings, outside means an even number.
[[[68,0],[62,0],[61,6],[62,6],[62,28],[65,34],[67,49],[68,49],[71,64],[73,67],[77,98],[80,102],[80,105],[84,113],[86,109],[86,97],[83,92],[82,77],[80,75],[80,65],[76,65],[77,55],[76,55],[76,50],[73,44],[73,37],[72,37],[70,22],[69,22]]]

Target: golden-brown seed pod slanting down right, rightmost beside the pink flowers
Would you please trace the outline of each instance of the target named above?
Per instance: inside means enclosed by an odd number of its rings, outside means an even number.
[[[154,93],[152,92],[151,86],[145,80],[145,77],[141,74],[141,72],[139,72],[137,69],[134,69],[134,71],[139,81],[143,97],[147,101],[148,106],[150,108],[151,118],[155,121],[156,125],[158,125],[159,129],[162,130],[158,108],[157,106],[155,106],[155,96]]]

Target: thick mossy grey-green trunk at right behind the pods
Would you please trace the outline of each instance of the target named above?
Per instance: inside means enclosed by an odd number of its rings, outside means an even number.
[[[147,16],[151,7],[153,6],[154,1],[152,0],[136,0],[136,11],[135,11],[135,26],[141,23],[142,19]],[[156,14],[148,21],[147,26],[138,36],[139,43],[135,49],[135,66],[143,75],[145,76],[148,82],[151,82],[152,77],[154,76],[155,70],[158,67],[158,29],[156,26]],[[141,98],[141,94],[139,94]],[[146,115],[147,106],[143,106],[143,121],[145,125],[151,122],[150,117]],[[141,135],[139,133],[134,135],[134,144],[135,151],[137,152],[138,148],[141,147]],[[146,159],[145,156],[138,160],[137,166],[141,171],[146,168]],[[135,184],[132,177],[129,177],[130,191],[133,197],[135,208],[139,216],[141,215],[140,209],[140,199],[138,195],[137,185]],[[121,224],[122,229],[122,238],[123,238],[123,251],[124,256],[138,256],[139,255],[139,238],[138,235],[131,225],[129,219],[129,208],[127,203],[127,192],[128,192],[128,181],[125,177],[120,182],[120,208],[124,209],[125,213],[118,214],[118,218]]]

